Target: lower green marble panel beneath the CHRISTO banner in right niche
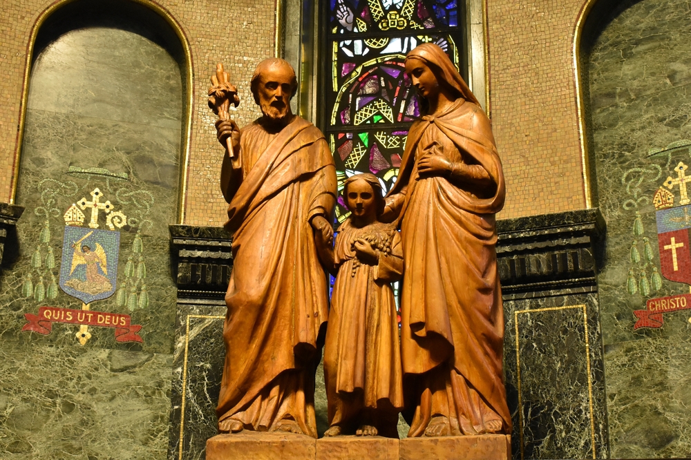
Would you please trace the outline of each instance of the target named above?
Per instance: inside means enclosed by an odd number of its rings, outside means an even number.
[[[605,347],[612,458],[691,455],[691,339],[646,338]]]

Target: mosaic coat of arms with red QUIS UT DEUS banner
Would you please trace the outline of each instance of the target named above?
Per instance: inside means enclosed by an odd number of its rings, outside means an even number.
[[[91,305],[99,300],[104,300],[115,294],[117,291],[117,303],[126,305],[132,303],[131,307],[144,307],[148,303],[146,289],[142,289],[140,296],[136,294],[128,295],[127,287],[119,287],[117,283],[117,265],[120,255],[120,231],[115,229],[122,228],[127,221],[126,215],[116,210],[110,200],[104,200],[104,194],[96,188],[91,192],[91,199],[82,198],[77,203],[72,204],[65,213],[64,237],[62,245],[62,259],[59,271],[59,287],[65,294],[71,296],[82,303],[81,309],[70,309],[61,307],[39,307],[38,314],[25,314],[28,321],[23,326],[23,331],[37,332],[38,334],[50,334],[53,323],[68,323],[79,325],[79,332],[75,334],[79,343],[84,345],[91,333],[88,327],[111,327],[115,329],[115,341],[117,342],[142,342],[142,338],[137,334],[142,328],[140,325],[131,324],[131,317],[128,314],[115,314],[111,312],[100,312],[91,309]],[[84,227],[86,213],[89,213],[88,224]],[[100,229],[99,215],[106,215],[105,227]],[[46,222],[46,227],[41,231],[41,242],[50,239],[50,227]],[[47,233],[44,235],[44,233]],[[141,251],[141,238],[135,237],[134,251],[139,248]],[[52,268],[55,265],[53,260],[53,249],[48,247],[48,255],[45,260],[41,255],[41,246],[37,248],[32,257],[32,266],[40,267],[41,264]],[[125,271],[126,277],[133,275],[133,260],[130,257],[127,261]],[[138,264],[138,276],[146,276],[146,268],[140,257]],[[51,274],[51,277],[53,275]],[[47,292],[43,287],[43,280],[39,280],[36,287],[32,286],[32,281],[27,278],[23,285],[26,295],[34,294],[36,298],[48,299],[55,298],[57,292],[55,280],[48,285]],[[132,289],[133,293],[135,289]],[[131,308],[133,309],[133,308]]]

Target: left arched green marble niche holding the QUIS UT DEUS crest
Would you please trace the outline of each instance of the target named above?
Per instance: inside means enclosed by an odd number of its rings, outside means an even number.
[[[9,306],[0,327],[22,339],[78,343],[75,325],[54,326],[75,334],[21,332],[23,314],[84,308],[88,301],[64,286],[88,281],[88,265],[74,267],[66,229],[111,231],[120,240],[105,249],[113,294],[89,308],[131,315],[143,343],[120,343],[98,327],[88,328],[88,342],[169,352],[176,295],[168,225],[179,218],[191,77],[180,32],[144,3],[75,0],[50,11],[32,49],[15,195],[26,211],[19,260],[0,287]],[[88,237],[92,251],[96,235]],[[103,264],[98,273],[106,274]]]

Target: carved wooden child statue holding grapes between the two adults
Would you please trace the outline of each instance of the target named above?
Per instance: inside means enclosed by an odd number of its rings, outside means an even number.
[[[375,175],[345,181],[350,217],[331,254],[337,271],[331,298],[324,375],[330,428],[325,436],[398,437],[403,408],[396,303],[390,283],[401,278],[401,237],[377,220],[384,209]]]

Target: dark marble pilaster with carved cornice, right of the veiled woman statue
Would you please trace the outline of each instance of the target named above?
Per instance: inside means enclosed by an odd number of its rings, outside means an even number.
[[[500,220],[514,459],[607,458],[598,209]]]

